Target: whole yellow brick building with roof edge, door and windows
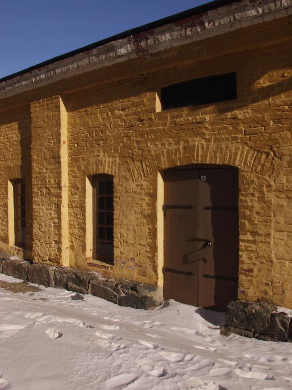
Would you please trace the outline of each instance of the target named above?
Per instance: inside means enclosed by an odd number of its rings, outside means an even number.
[[[292,0],[217,0],[0,79],[0,250],[292,308]]]

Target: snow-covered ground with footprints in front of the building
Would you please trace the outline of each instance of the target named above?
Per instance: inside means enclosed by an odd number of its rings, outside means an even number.
[[[221,313],[19,282],[0,274],[0,390],[292,389],[292,344],[221,336]]]

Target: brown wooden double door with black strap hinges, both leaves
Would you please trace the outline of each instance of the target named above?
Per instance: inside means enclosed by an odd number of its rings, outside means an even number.
[[[164,186],[164,299],[224,310],[237,299],[238,170],[167,170]]]

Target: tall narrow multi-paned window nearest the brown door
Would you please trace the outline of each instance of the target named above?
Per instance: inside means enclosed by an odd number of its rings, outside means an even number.
[[[92,177],[93,257],[113,264],[113,176]]]

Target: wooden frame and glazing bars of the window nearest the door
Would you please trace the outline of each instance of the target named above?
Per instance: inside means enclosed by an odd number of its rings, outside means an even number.
[[[91,177],[91,185],[92,185],[92,235],[93,235],[93,242],[92,242],[92,259],[101,261],[103,263],[107,263],[109,265],[113,265],[113,249],[112,254],[101,254],[98,242],[105,242],[112,245],[112,248],[114,246],[114,237],[113,237],[113,229],[114,229],[114,204],[112,205],[112,210],[108,210],[107,207],[104,209],[100,209],[98,206],[98,198],[100,196],[100,182],[112,182],[112,194],[102,194],[101,197],[104,197],[105,199],[112,197],[112,201],[114,199],[114,189],[113,189],[113,175],[108,174],[98,174]],[[108,225],[105,219],[105,223],[101,224],[98,221],[98,212],[103,213],[112,213],[112,225]],[[105,231],[107,228],[112,228],[112,239],[100,238],[98,237],[98,228],[104,228]]]

